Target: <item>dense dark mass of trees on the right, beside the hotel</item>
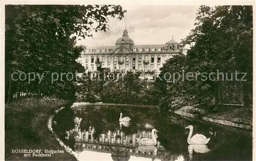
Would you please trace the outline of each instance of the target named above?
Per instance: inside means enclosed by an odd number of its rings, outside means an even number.
[[[174,57],[161,68],[158,86],[168,88],[162,92],[159,107],[163,111],[175,110],[183,102],[204,103],[214,108],[219,103],[251,104],[252,89],[252,7],[200,6],[195,29],[181,42],[190,44],[186,57]],[[247,73],[247,81],[224,81],[236,71]],[[205,79],[215,72],[217,76]],[[222,75],[224,73],[224,80]],[[184,74],[184,79],[165,78],[166,73]],[[193,76],[188,77],[188,73]],[[198,77],[196,76],[198,74]],[[228,77],[226,76],[228,74]],[[174,76],[174,75],[172,75]],[[178,77],[178,76],[177,76]],[[241,79],[242,75],[238,76]],[[164,79],[165,78],[165,79]],[[165,80],[170,80],[167,83]],[[174,81],[175,79],[175,81]],[[162,91],[162,90],[161,90]],[[241,94],[241,91],[243,93]],[[241,101],[243,98],[243,101]],[[232,101],[232,102],[230,102]],[[212,106],[214,105],[214,106]]]

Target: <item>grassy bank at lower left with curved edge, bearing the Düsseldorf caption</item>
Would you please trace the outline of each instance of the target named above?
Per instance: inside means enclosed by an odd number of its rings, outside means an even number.
[[[59,145],[47,127],[51,114],[62,106],[70,106],[70,102],[44,97],[8,104],[5,108],[5,160],[76,160]],[[63,150],[64,153],[50,157],[25,157],[23,153],[11,152],[15,149]]]

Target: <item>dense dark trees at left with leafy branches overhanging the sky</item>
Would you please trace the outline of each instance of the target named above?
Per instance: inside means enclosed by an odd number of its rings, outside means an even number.
[[[125,12],[119,5],[7,5],[5,10],[8,102],[20,91],[74,99],[75,73],[84,71],[75,61],[84,50],[84,47],[75,46],[76,38],[92,36],[92,30],[106,32],[108,17],[122,19]],[[96,28],[93,28],[95,23]],[[13,72],[35,72],[44,77],[41,81],[36,77],[30,83],[28,77],[22,78],[24,81],[13,81]]]

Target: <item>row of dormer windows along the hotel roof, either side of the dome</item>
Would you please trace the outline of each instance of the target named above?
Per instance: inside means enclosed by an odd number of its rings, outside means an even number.
[[[158,52],[160,52],[160,51],[162,51],[164,49],[164,47],[158,47],[158,48],[152,47],[151,50],[150,50],[150,48],[139,48],[139,49],[138,48],[134,48],[133,52],[149,52],[149,51],[155,52],[156,49],[157,49]],[[172,49],[173,49],[173,47],[172,47],[172,45],[170,45],[169,46],[169,50],[172,50]],[[86,52],[87,53],[90,53],[90,52],[92,52],[92,53],[94,53],[94,52],[105,53],[105,52],[113,52],[113,49],[87,49]]]

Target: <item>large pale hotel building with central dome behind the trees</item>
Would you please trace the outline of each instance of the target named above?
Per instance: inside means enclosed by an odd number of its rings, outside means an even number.
[[[152,79],[151,76],[160,73],[159,68],[167,59],[174,55],[184,56],[186,52],[174,39],[165,44],[135,45],[125,29],[115,46],[87,47],[77,61],[86,68],[86,72],[96,72],[101,62],[102,67],[110,68],[112,72],[138,71],[146,73],[147,77],[150,74],[148,78]]]

